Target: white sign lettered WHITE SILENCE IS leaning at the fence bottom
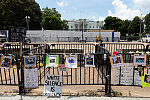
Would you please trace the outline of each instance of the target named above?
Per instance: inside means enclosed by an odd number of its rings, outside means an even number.
[[[62,96],[62,76],[60,75],[45,75],[44,95],[47,96]]]

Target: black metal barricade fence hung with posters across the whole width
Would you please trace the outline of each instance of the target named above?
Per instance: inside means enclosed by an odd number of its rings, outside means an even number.
[[[0,85],[17,85],[20,88],[20,93],[25,92],[23,89],[23,56],[35,55],[36,66],[38,67],[39,85],[44,85],[45,74],[58,74],[63,76],[64,85],[105,85],[105,93],[111,93],[111,85],[126,86],[122,84],[121,75],[123,69],[119,68],[118,84],[114,84],[114,70],[110,67],[109,56],[117,49],[121,49],[121,54],[125,63],[132,63],[134,53],[146,53],[150,51],[149,45],[136,43],[67,43],[67,44],[23,44],[5,43],[4,49],[0,51],[2,54],[13,54],[15,56],[14,63],[17,64],[17,69],[2,69],[0,68]],[[64,54],[77,54],[78,67],[68,69],[68,72],[60,72],[57,68],[46,68],[46,55],[59,55],[59,63],[65,62]],[[85,67],[84,55],[94,55],[95,67]],[[147,65],[149,65],[149,55]],[[42,64],[42,65],[41,65]],[[133,78],[130,86],[135,84],[135,71],[133,68]],[[147,71],[147,69],[145,69]],[[127,85],[129,86],[129,85]]]

